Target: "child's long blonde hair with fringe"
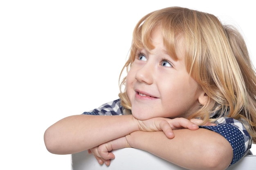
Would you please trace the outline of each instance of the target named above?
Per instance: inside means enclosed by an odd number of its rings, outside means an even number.
[[[154,29],[162,29],[164,45],[177,60],[175,47],[181,35],[186,51],[185,64],[188,73],[209,96],[188,119],[200,118],[214,121],[211,114],[231,117],[243,122],[256,142],[256,73],[249,58],[242,35],[232,26],[222,25],[216,16],[186,9],[168,7],[145,15],[135,26],[130,56],[122,73],[127,72],[135,60],[137,49],[154,49],[150,35]],[[121,104],[131,109],[124,88],[126,77],[120,81]]]

